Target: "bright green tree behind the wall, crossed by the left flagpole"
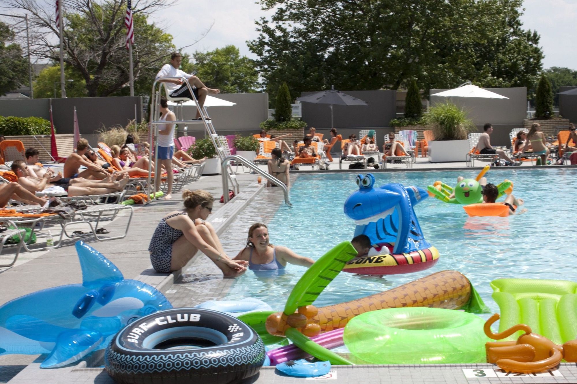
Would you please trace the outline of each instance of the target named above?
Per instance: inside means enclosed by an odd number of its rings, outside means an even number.
[[[64,67],[64,78],[66,81],[66,97],[85,97],[87,95],[84,78],[72,67]],[[60,66],[55,65],[41,70],[33,82],[33,87],[36,99],[61,97]],[[56,96],[54,96],[54,89],[56,89]]]

